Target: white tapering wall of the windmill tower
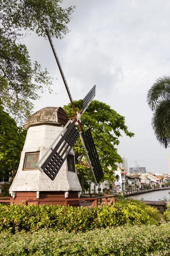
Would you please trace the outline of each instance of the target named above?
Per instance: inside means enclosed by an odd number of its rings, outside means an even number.
[[[10,191],[81,191],[77,173],[69,172],[67,160],[62,165],[57,176],[52,181],[44,172],[37,170],[23,171],[23,163],[27,152],[40,151],[40,157],[45,154],[63,127],[54,125],[39,125],[28,128],[26,141],[21,153],[20,165],[11,184]],[[74,154],[71,150],[71,154]]]

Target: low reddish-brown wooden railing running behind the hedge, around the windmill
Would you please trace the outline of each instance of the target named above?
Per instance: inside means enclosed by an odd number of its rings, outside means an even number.
[[[108,202],[108,198],[111,198],[111,201]],[[115,204],[115,198],[113,195],[107,195],[107,196],[101,196],[101,197],[96,197],[96,198],[63,198],[63,199],[36,199],[36,200],[23,200],[23,205],[28,205],[31,203],[35,203],[36,205],[39,205],[39,203],[44,203],[44,204],[49,204],[49,203],[54,203],[54,202],[64,202],[64,206],[67,207],[69,205],[70,201],[93,201],[91,207],[97,207],[97,201],[101,204],[102,201],[104,201],[105,206],[108,206],[109,204]],[[11,204],[13,202],[14,204],[19,204],[20,201],[12,200],[12,198],[0,198],[0,203],[3,204]]]

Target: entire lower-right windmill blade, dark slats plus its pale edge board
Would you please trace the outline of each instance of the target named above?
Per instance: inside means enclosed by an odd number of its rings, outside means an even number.
[[[104,174],[102,171],[102,166],[99,161],[99,156],[97,154],[96,147],[95,147],[94,140],[91,135],[90,129],[88,129],[85,132],[81,131],[80,138],[82,140],[82,144],[85,149],[85,154],[88,159],[88,163],[90,165],[90,169],[91,169],[92,175],[94,177],[94,181],[97,186],[99,184],[99,181],[104,176]]]

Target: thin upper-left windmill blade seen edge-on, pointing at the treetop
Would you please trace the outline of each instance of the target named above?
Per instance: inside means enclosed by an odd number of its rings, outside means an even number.
[[[66,88],[67,93],[68,93],[68,97],[69,97],[71,103],[73,104],[73,99],[72,99],[70,90],[69,90],[69,88],[68,88],[68,84],[67,84],[67,81],[66,81],[66,79],[65,79],[64,73],[63,73],[63,71],[62,71],[62,67],[61,67],[61,65],[60,65],[60,63],[59,63],[59,58],[58,58],[58,56],[57,56],[57,53],[56,53],[56,50],[55,50],[55,48],[54,48],[54,44],[53,44],[53,42],[52,42],[52,39],[51,39],[51,36],[50,36],[50,34],[49,34],[48,29],[45,29],[45,32],[46,32],[46,34],[47,34],[47,36],[48,36],[48,40],[49,40],[49,42],[50,42],[52,51],[53,51],[53,53],[54,53],[54,57],[55,57],[55,59],[56,59],[56,61],[57,61],[57,65],[58,65],[58,67],[59,67],[59,71],[60,71],[60,73],[61,73],[62,80],[63,80],[63,82],[64,82],[65,88]]]

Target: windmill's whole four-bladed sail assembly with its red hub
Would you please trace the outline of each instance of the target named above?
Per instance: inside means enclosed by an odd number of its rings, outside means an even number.
[[[88,163],[89,163],[92,175],[94,177],[94,181],[95,181],[96,185],[98,185],[99,181],[104,176],[102,167],[101,167],[101,164],[99,161],[99,156],[96,151],[96,147],[94,144],[94,140],[93,140],[90,128],[88,128],[86,131],[84,131],[82,128],[82,124],[81,124],[81,115],[86,111],[86,109],[90,105],[91,101],[94,99],[95,92],[96,92],[96,85],[94,85],[94,87],[89,91],[89,93],[82,100],[82,109],[78,112],[75,108],[74,101],[72,99],[70,90],[68,88],[67,81],[66,81],[64,73],[62,71],[62,67],[59,63],[59,59],[58,59],[57,53],[55,51],[51,36],[48,32],[48,29],[46,29],[45,31],[47,33],[48,40],[51,44],[51,48],[54,53],[54,57],[57,61],[57,65],[59,67],[59,71],[61,73],[62,80],[65,84],[65,88],[68,93],[68,97],[69,97],[72,107],[74,109],[75,116],[74,116],[72,122],[71,122],[71,120],[68,121],[68,123],[65,125],[63,130],[57,136],[54,143],[51,145],[51,147],[47,150],[47,152],[44,154],[44,156],[37,163],[37,169],[39,169],[40,172],[45,172],[45,174],[51,180],[54,180],[55,177],[57,176],[57,173],[59,172],[59,169],[62,167],[62,164],[68,157],[68,154],[71,151],[71,148],[74,146],[74,144],[77,141],[77,138],[80,136],[83,148],[85,150],[85,155],[88,159]],[[80,132],[78,132],[77,128],[75,127],[76,122],[79,125]]]

